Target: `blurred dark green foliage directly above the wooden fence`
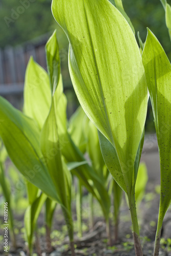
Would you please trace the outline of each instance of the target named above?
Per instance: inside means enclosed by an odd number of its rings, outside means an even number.
[[[51,0],[0,0],[0,47],[17,45],[51,30]]]

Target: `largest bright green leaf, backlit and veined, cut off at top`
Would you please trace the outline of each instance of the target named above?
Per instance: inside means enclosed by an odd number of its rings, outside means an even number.
[[[69,40],[69,71],[78,99],[115,146],[130,193],[147,108],[144,69],[134,34],[107,0],[53,0],[52,11]]]

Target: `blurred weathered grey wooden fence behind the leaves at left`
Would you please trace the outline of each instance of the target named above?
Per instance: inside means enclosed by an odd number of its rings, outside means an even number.
[[[0,95],[19,94],[23,91],[27,63],[32,55],[46,67],[44,46],[49,34],[18,47],[0,49]]]

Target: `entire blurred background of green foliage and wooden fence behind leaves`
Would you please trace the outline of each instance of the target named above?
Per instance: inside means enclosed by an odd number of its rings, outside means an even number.
[[[57,29],[69,117],[77,109],[79,102],[68,72],[68,41],[55,22],[51,12],[51,2],[51,0],[0,0],[0,95],[6,97],[18,109],[22,109],[23,84],[29,58],[33,55],[35,61],[46,69],[44,46],[54,29]],[[114,0],[111,2],[114,4]],[[123,0],[123,5],[136,35],[139,31],[142,40],[145,41],[146,27],[149,27],[171,59],[165,13],[160,1]],[[153,114],[149,105],[146,132],[154,131]]]

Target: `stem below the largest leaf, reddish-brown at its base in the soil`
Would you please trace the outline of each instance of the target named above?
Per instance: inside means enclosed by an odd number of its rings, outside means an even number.
[[[129,206],[131,211],[135,255],[143,256],[142,247],[141,247],[140,238],[139,238],[139,227],[138,227],[138,219],[137,219],[136,204],[135,204],[135,191],[133,191],[133,193],[131,194],[131,197],[128,198],[128,200],[129,200]]]

